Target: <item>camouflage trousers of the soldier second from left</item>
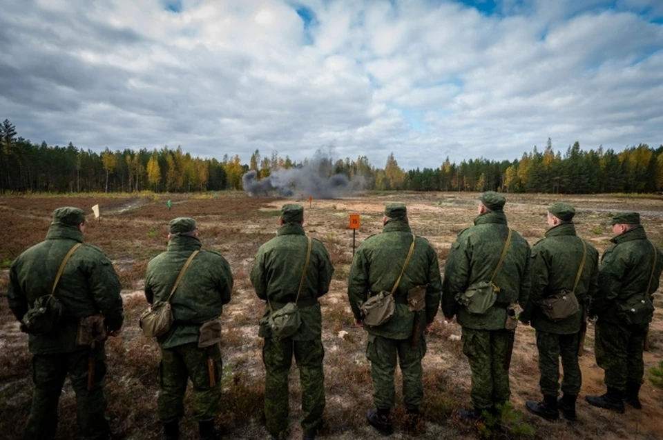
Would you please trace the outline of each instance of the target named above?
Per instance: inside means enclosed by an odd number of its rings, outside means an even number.
[[[207,359],[214,363],[215,385],[210,385]],[[184,416],[184,394],[189,379],[193,383],[193,418],[210,421],[216,417],[221,399],[221,349],[218,344],[208,349],[197,342],[173,348],[162,348],[157,381],[160,385],[157,412],[163,423]]]

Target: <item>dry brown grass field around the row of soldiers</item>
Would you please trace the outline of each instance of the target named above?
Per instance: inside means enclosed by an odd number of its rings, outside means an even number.
[[[173,208],[164,205],[173,199]],[[352,261],[352,231],[347,228],[348,214],[361,214],[357,245],[381,230],[385,203],[407,203],[410,223],[416,234],[430,240],[437,250],[441,269],[456,234],[472,224],[477,194],[403,193],[361,194],[334,200],[314,200],[305,205],[305,230],[323,241],[336,271],[332,288],[320,299],[323,306],[325,344],[325,388],[327,408],[320,439],[377,439],[365,423],[372,406],[369,363],[365,358],[366,334],[354,326],[347,303],[346,287]],[[546,230],[546,207],[563,199],[573,203],[579,234],[603,252],[611,238],[611,212],[637,210],[642,214],[646,232],[657,246],[663,247],[663,198],[577,196],[555,197],[537,194],[507,195],[506,214],[510,225],[535,243]],[[218,424],[229,439],[267,438],[262,419],[264,368],[260,357],[258,320],[264,303],[259,301],[249,281],[249,270],[258,246],[276,232],[278,210],[284,199],[248,198],[243,193],[220,193],[218,197],[173,195],[156,197],[0,197],[0,437],[19,438],[30,408],[32,379],[27,337],[18,330],[8,310],[6,286],[12,259],[41,241],[58,206],[78,206],[90,210],[99,203],[102,221],[90,221],[86,241],[102,248],[113,260],[122,278],[126,321],[120,337],[107,343],[108,414],[115,430],[128,439],[157,439],[161,426],[156,414],[156,368],[159,359],[155,341],[142,336],[137,316],[146,306],[142,280],[147,261],[166,248],[167,221],[173,217],[194,217],[198,221],[204,248],[218,250],[229,260],[235,277],[233,299],[224,308],[223,396]],[[90,211],[91,212],[91,211]],[[91,217],[90,217],[91,220]],[[663,360],[663,296],[651,326],[651,351],[644,354],[646,369]],[[455,410],[469,406],[470,370],[461,352],[456,323],[445,323],[438,315],[428,336],[428,352],[423,360],[427,423],[419,426],[416,437],[403,434],[402,406],[396,407],[396,433],[393,439],[441,438],[521,438],[521,428],[531,426],[538,439],[660,439],[663,438],[663,392],[648,381],[642,387],[644,409],[627,407],[616,414],[588,406],[585,394],[602,393],[603,371],[594,360],[593,327],[590,326],[581,359],[583,386],[578,401],[579,421],[548,423],[524,409],[528,399],[540,399],[539,373],[534,330],[519,326],[511,366],[512,404],[520,421],[506,427],[486,430],[479,424],[459,421]],[[397,374],[397,390],[400,377]],[[298,372],[291,372],[292,439],[300,439],[298,426],[300,397]],[[398,391],[398,395],[400,395]],[[187,396],[191,403],[190,396]],[[60,401],[59,439],[76,435],[73,391],[67,384]],[[191,419],[191,405],[182,422],[183,438],[194,439],[197,427]]]

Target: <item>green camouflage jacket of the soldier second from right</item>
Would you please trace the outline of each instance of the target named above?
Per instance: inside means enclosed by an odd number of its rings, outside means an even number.
[[[599,252],[585,242],[587,254],[575,296],[580,310],[561,321],[553,322],[539,308],[539,301],[561,290],[572,290],[582,262],[582,239],[577,237],[573,223],[562,223],[546,232],[546,238],[532,246],[532,288],[521,321],[543,332],[573,334],[580,325],[588,301],[596,294],[599,283]]]

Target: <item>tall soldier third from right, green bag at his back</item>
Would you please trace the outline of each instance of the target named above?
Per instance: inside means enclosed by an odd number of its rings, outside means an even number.
[[[503,206],[506,200],[494,191],[479,200],[479,217],[474,226],[461,231],[452,245],[444,268],[442,311],[448,319],[457,317],[463,328],[463,353],[472,370],[472,410],[461,410],[463,419],[478,419],[484,410],[496,412],[497,405],[510,397],[508,360],[513,332],[505,330],[507,308],[518,301],[525,304],[530,291],[530,246],[518,232],[512,238],[494,283],[497,301],[484,314],[470,314],[457,294],[479,281],[488,281],[497,268],[506,243],[508,226]]]

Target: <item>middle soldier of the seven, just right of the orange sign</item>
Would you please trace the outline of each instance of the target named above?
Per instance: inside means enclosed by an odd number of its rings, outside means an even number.
[[[381,234],[368,237],[357,249],[350,269],[347,297],[354,319],[361,325],[363,316],[360,304],[378,292],[392,290],[414,239],[412,257],[394,292],[394,316],[381,326],[364,325],[368,332],[366,357],[371,361],[373,402],[376,407],[368,412],[367,420],[383,434],[391,434],[390,411],[396,403],[394,372],[397,358],[403,374],[403,401],[410,427],[414,428],[419,420],[419,405],[423,399],[421,359],[426,352],[424,330],[433,322],[439,308],[442,283],[437,254],[426,239],[412,234],[405,205],[388,204],[383,225]],[[407,291],[423,285],[427,285],[425,309],[410,312],[407,308]],[[417,326],[418,343],[413,346],[415,319],[421,325]]]

